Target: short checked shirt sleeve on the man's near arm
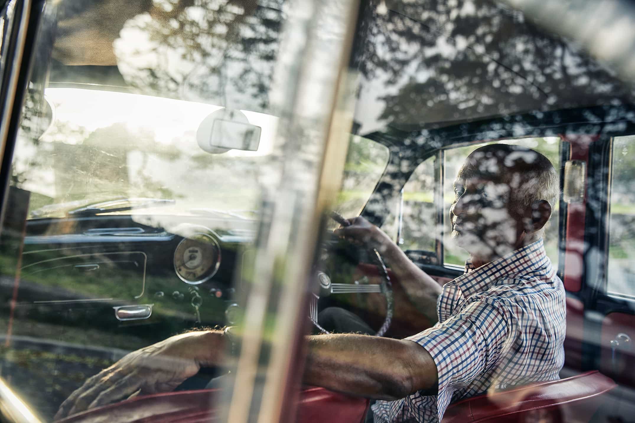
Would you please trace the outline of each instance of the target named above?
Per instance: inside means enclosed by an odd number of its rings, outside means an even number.
[[[468,386],[498,365],[510,348],[512,325],[504,309],[486,297],[468,304],[445,322],[406,338],[424,347],[436,364],[439,420],[455,389]]]

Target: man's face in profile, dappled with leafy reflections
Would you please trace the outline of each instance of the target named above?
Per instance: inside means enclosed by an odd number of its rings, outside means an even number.
[[[451,237],[472,256],[504,256],[518,248],[522,214],[513,201],[519,173],[478,150],[465,160],[454,183]]]

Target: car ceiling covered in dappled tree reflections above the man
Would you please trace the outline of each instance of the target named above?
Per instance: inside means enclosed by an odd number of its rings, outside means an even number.
[[[360,134],[634,103],[629,84],[518,11],[480,0],[452,15],[445,3],[387,1],[383,13],[366,11],[374,15],[356,46]]]

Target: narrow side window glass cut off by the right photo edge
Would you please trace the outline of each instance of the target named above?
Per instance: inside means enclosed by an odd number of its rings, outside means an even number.
[[[635,296],[635,136],[613,139],[608,280],[611,294]]]

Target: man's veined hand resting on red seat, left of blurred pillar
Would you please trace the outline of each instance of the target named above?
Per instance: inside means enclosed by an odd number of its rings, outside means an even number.
[[[188,332],[133,351],[70,394],[55,420],[137,393],[173,391],[202,366],[217,361],[221,336],[220,332]]]

